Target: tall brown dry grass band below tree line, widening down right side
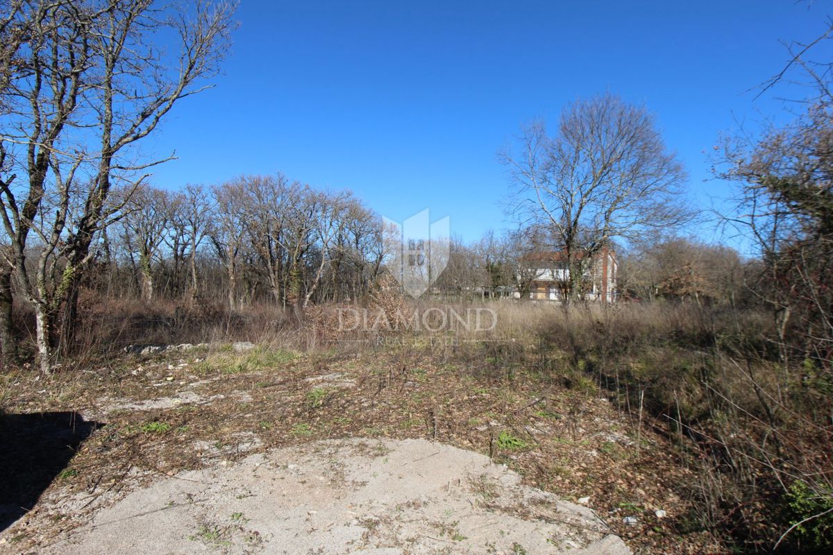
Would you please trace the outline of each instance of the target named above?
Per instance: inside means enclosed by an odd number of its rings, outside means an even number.
[[[350,310],[389,323],[416,312],[430,330],[345,325]],[[472,310],[494,315],[494,325],[478,330],[449,317]],[[446,304],[407,300],[382,285],[353,305],[229,312],[206,301],[143,305],[89,295],[65,368],[89,367],[131,344],[252,341],[311,352],[419,349],[508,387],[534,376],[609,397],[637,433],[646,425],[666,434],[698,477],[687,484],[698,508],[687,527],[717,531],[744,551],[777,544],[784,553],[813,553],[833,541],[833,518],[826,520],[833,515],[833,379],[830,369],[781,359],[773,337],[765,312],[696,303]]]

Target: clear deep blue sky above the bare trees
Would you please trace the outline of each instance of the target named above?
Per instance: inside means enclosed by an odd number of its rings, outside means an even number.
[[[403,221],[424,208],[465,240],[511,226],[496,151],[576,97],[644,103],[700,206],[730,196],[706,152],[783,109],[756,87],[781,42],[824,31],[831,2],[269,2],[242,0],[217,87],[174,108],[145,148],[176,150],[157,186],[242,173],[351,189]],[[781,91],[783,93],[783,91]],[[717,240],[708,226],[697,230]]]

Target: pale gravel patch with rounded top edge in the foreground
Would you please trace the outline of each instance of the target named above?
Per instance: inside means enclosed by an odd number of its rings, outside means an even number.
[[[230,555],[631,553],[590,509],[523,485],[480,453],[425,439],[322,441],[222,460],[144,484],[43,553],[212,553],[205,529],[222,532]]]

